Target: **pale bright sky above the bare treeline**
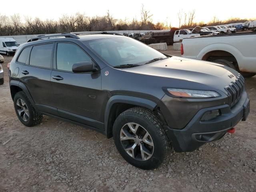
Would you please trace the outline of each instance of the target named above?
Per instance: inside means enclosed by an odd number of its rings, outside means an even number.
[[[63,14],[84,13],[86,16],[103,16],[109,10],[116,19],[137,18],[140,20],[140,10],[144,8],[153,14],[154,23],[164,22],[178,26],[178,12],[196,10],[195,22],[208,22],[216,16],[219,20],[231,17],[255,18],[255,0],[12,0],[1,2],[1,15],[20,14],[38,17],[42,20],[58,20]]]

